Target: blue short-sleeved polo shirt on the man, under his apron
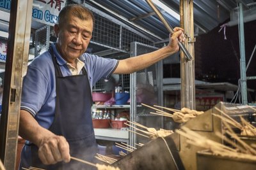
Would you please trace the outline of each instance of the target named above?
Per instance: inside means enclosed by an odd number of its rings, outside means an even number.
[[[52,48],[63,76],[71,76],[67,61],[61,57],[54,44]],[[100,78],[108,79],[118,65],[116,59],[106,59],[89,53],[81,55],[79,60],[84,62],[91,90]],[[54,120],[55,102],[55,71],[51,54],[47,51],[36,57],[28,66],[23,80],[20,109],[29,111],[42,127],[48,129]]]

